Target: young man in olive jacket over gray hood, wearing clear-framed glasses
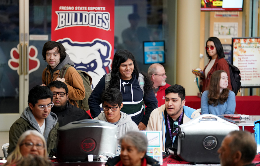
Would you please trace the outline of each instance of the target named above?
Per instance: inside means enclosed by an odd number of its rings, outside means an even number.
[[[37,85],[29,91],[29,106],[10,128],[8,154],[13,152],[19,137],[27,130],[37,130],[44,136],[48,154],[56,147],[59,123],[57,116],[51,112],[52,99],[53,94],[46,86]]]

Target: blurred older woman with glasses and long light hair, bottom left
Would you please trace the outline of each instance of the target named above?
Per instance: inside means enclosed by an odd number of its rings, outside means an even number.
[[[24,157],[29,155],[47,158],[46,141],[43,135],[36,130],[27,130],[20,136],[14,151],[8,155],[4,166],[18,165],[24,161]]]

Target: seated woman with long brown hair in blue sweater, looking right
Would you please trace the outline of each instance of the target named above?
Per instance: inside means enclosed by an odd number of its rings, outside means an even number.
[[[210,78],[209,90],[201,96],[201,114],[234,114],[235,93],[228,88],[228,75],[224,70],[215,71]]]

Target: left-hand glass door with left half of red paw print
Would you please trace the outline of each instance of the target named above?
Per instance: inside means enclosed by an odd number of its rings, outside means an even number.
[[[25,104],[28,80],[24,64],[25,2],[1,1],[0,4],[0,131],[8,131],[20,117]],[[28,41],[27,41],[28,42]],[[26,44],[25,44],[26,43]],[[28,94],[28,93],[27,93]]]

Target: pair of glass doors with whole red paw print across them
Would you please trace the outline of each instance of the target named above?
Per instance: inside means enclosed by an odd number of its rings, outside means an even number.
[[[51,0],[0,1],[0,131],[10,129],[28,106],[29,90],[42,84],[50,34]]]

